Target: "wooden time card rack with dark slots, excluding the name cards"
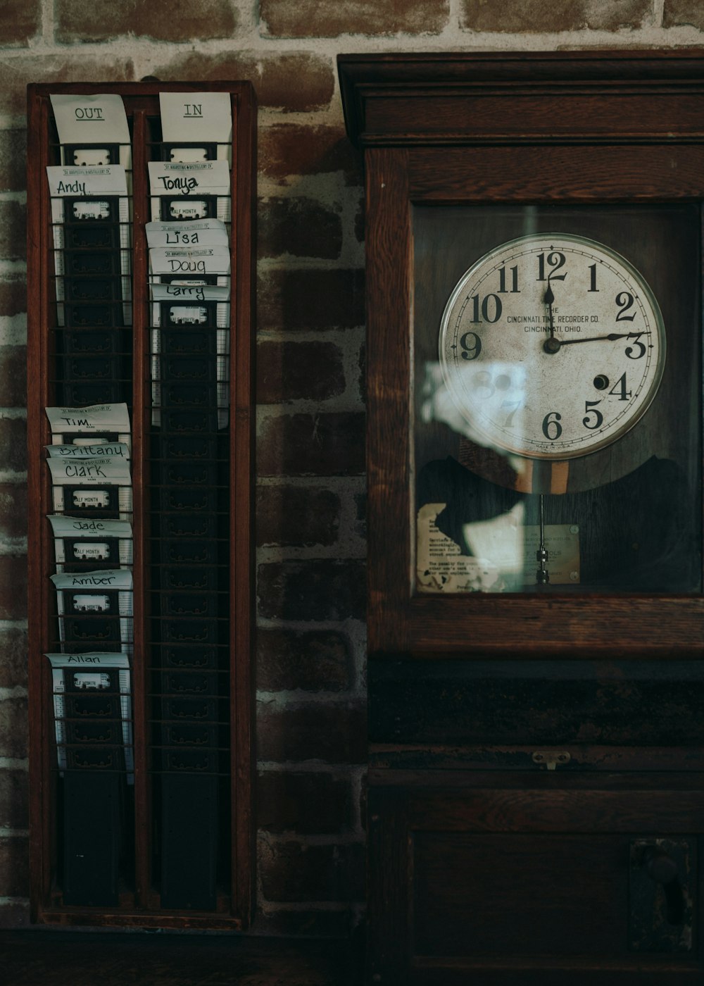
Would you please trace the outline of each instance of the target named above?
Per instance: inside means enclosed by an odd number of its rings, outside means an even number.
[[[230,253],[227,274],[205,278],[217,302],[171,307],[154,291],[170,279],[150,268],[146,224],[194,218],[150,187],[150,162],[178,160],[163,93],[230,97],[232,137],[204,145],[206,159],[229,162],[229,194],[207,200]],[[64,197],[57,213],[46,169],[81,161],[59,143],[51,97],[99,94],[126,114],[131,151],[116,160],[127,209]],[[31,85],[28,117],[32,917],[242,929],[253,897],[254,93],[246,82]],[[65,485],[57,511],[45,447],[75,434],[57,436],[46,408],[118,404],[127,435],[97,441],[109,453],[126,439],[131,496]],[[127,522],[130,549],[119,536],[72,540],[66,519],[87,517],[114,521],[112,535]],[[131,589],[58,590],[57,572],[106,568]],[[100,651],[100,669],[64,667],[61,655]]]

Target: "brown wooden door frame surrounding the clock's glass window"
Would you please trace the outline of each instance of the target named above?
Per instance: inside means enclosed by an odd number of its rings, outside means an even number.
[[[701,84],[695,88],[695,102],[704,116],[704,88]],[[676,101],[678,93],[673,87],[671,99]],[[403,95],[410,99],[407,93]],[[646,100],[645,92],[641,96]],[[543,98],[548,102],[554,99],[557,106],[560,94],[544,93]],[[620,98],[615,89],[612,98]],[[687,105],[691,100],[692,94],[687,90]],[[367,254],[371,272],[371,655],[701,656],[704,601],[699,595],[573,598],[551,594],[549,598],[536,599],[469,594],[437,599],[414,596],[412,590],[412,357],[408,354],[413,282],[408,217],[412,206],[421,202],[441,206],[506,201],[565,205],[700,201],[704,193],[702,135],[693,136],[690,132],[685,137],[675,133],[672,139],[671,133],[665,132],[663,120],[653,116],[650,119],[647,154],[644,148],[633,145],[627,134],[614,133],[608,141],[601,142],[584,138],[583,144],[569,148],[566,145],[570,139],[563,134],[537,142],[532,137],[524,140],[515,119],[511,121],[515,129],[507,132],[502,141],[492,136],[481,147],[462,146],[459,137],[455,146],[439,147],[437,141],[424,140],[416,132],[406,141],[408,146],[382,149],[379,145],[384,144],[383,137],[362,135],[361,142],[367,144]],[[575,121],[573,140],[578,139],[581,123],[584,120]],[[426,125],[430,124],[426,121]],[[469,143],[466,135],[464,142]],[[385,196],[380,196],[385,174],[396,175],[395,212],[386,189]],[[392,236],[385,235],[391,230]],[[378,337],[382,330],[383,341]],[[375,544],[383,545],[383,552],[377,552]]]

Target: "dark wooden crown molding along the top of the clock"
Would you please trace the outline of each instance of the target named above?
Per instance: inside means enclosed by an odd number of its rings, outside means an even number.
[[[360,148],[704,143],[700,48],[340,54],[337,66]],[[562,110],[546,113],[546,96]]]

